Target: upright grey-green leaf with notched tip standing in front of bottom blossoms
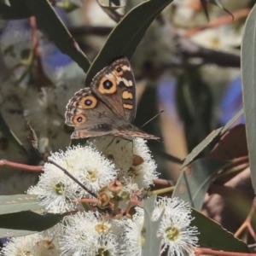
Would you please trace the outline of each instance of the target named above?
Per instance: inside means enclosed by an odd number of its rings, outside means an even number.
[[[156,195],[150,196],[143,203],[144,209],[144,224],[143,229],[145,229],[145,243],[143,245],[143,256],[148,255],[160,255],[160,244],[161,238],[157,236],[157,230],[159,228],[160,221],[163,217],[164,212],[161,213],[160,218],[157,221],[152,221],[152,213],[154,211],[154,201]]]

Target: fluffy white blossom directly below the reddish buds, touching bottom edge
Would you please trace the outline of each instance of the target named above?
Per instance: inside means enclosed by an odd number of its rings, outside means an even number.
[[[117,255],[119,232],[115,222],[99,212],[79,212],[64,219],[61,251],[65,256]],[[104,254],[105,255],[105,254]]]

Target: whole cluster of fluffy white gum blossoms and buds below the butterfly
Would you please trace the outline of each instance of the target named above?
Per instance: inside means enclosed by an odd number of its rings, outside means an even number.
[[[0,255],[142,255],[147,230],[141,206],[158,177],[145,141],[99,137],[51,154],[49,160],[65,168],[87,191],[60,168],[46,163],[38,184],[27,194],[38,195],[45,212],[66,217],[44,232],[10,238]],[[193,253],[198,231],[190,226],[188,205],[176,198],[160,198],[152,221],[160,216],[156,230],[160,253]]]

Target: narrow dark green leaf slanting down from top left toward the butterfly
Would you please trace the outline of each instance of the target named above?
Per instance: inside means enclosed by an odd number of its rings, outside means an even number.
[[[44,29],[62,53],[69,55],[87,72],[90,61],[86,58],[79,44],[74,40],[67,27],[62,23],[59,16],[55,13],[48,0],[23,0],[32,14],[36,16],[38,24]]]

